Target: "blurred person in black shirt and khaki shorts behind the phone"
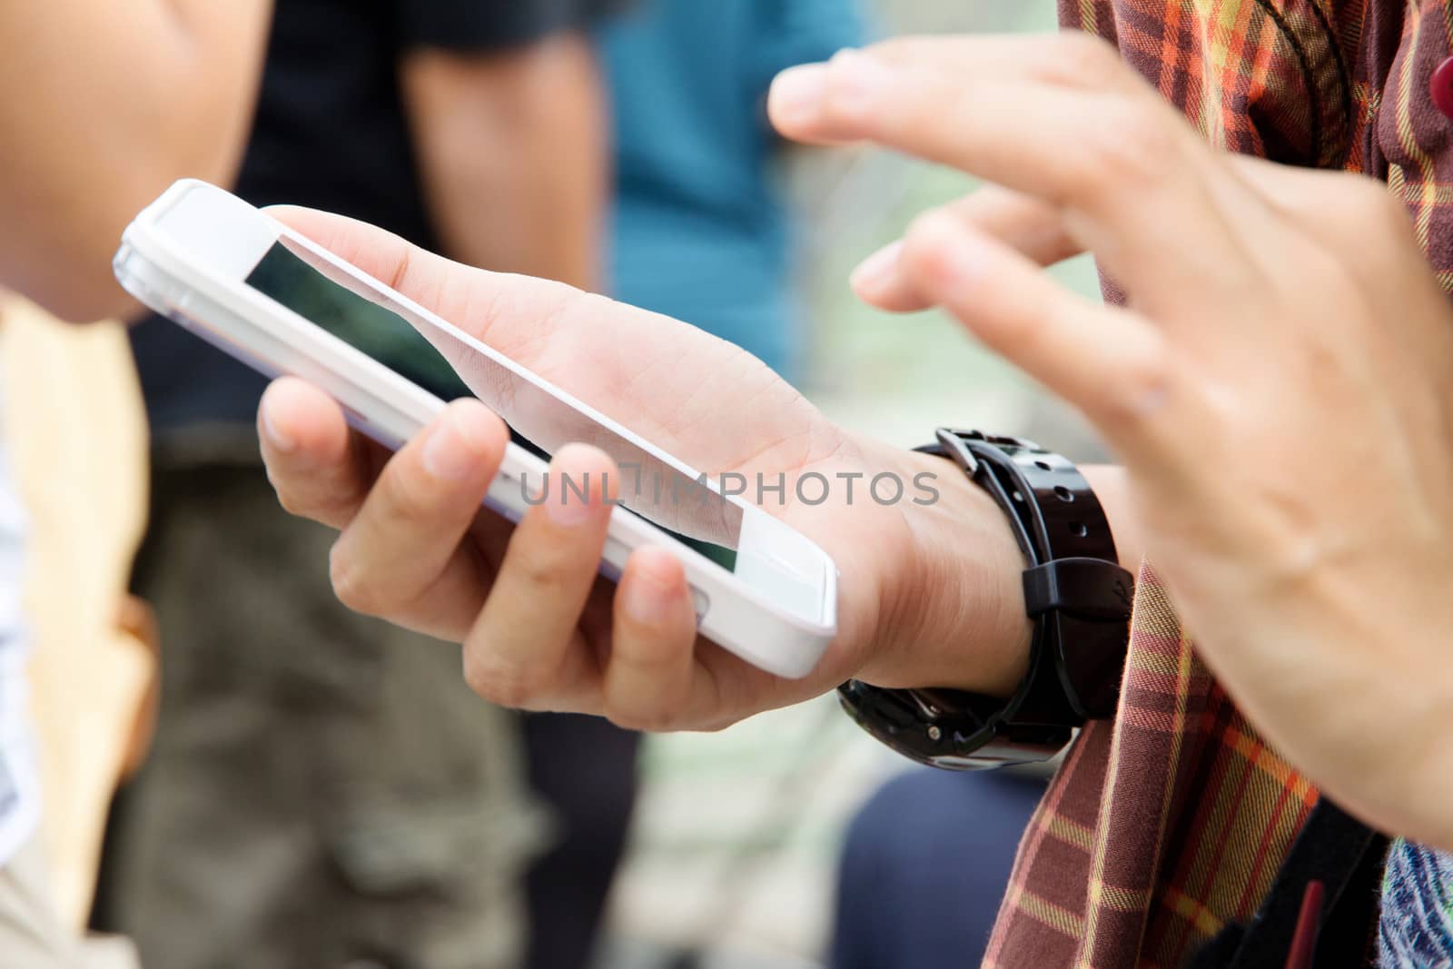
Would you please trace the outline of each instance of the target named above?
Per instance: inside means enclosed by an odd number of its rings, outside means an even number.
[[[607,6],[280,0],[238,193],[599,289],[607,122],[584,31]],[[344,610],[317,568],[331,535],[278,507],[259,459],[263,378],[160,320],[134,349],[154,439],[135,588],[170,648],[96,924],[148,969],[583,965],[634,738],[479,703],[456,649]]]

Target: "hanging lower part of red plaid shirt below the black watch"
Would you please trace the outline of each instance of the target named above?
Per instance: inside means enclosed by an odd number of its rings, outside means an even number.
[[[1030,822],[987,966],[1177,966],[1255,912],[1316,803],[1148,567],[1130,626],[1120,715],[1081,734]]]

